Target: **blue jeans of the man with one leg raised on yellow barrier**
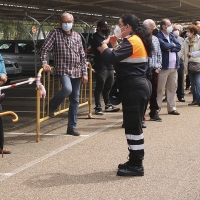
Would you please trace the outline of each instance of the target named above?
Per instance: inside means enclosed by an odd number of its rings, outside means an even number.
[[[64,75],[60,76],[60,83],[62,84],[62,89],[51,99],[50,109],[55,111],[63,100],[69,97],[68,128],[75,129],[77,124],[81,78],[70,78]]]

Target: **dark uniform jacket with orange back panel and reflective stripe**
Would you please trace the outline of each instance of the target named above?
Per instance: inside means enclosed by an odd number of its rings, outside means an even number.
[[[148,68],[148,55],[137,35],[127,36],[113,50],[105,49],[101,56],[114,64],[117,77],[145,76]]]

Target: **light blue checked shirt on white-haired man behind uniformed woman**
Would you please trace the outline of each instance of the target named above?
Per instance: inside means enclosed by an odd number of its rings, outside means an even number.
[[[160,42],[157,37],[152,35],[152,43],[154,50],[152,52],[152,57],[149,57],[149,66],[153,69],[162,68],[162,52],[160,49]]]

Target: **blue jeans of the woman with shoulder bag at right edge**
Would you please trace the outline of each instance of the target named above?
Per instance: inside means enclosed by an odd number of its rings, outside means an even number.
[[[195,74],[188,72],[190,83],[191,83],[191,91],[193,94],[193,101],[200,103],[200,74]]]

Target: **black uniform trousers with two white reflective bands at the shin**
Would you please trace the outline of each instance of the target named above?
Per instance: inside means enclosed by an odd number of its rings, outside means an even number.
[[[123,121],[129,149],[129,161],[133,166],[142,165],[144,136],[142,119],[151,96],[151,83],[143,77],[126,77],[119,80],[122,95]]]

